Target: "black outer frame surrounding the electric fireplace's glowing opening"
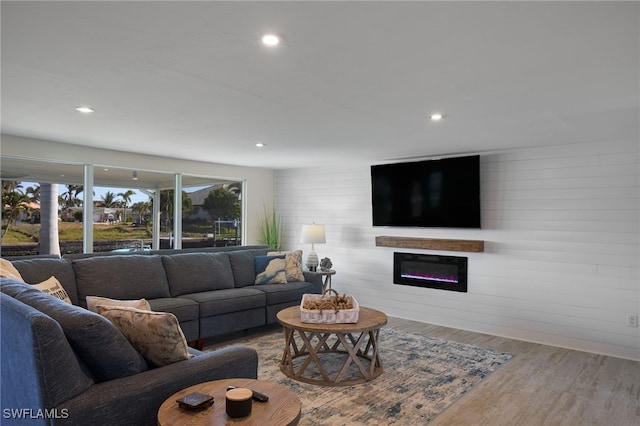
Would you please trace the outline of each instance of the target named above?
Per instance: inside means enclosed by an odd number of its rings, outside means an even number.
[[[419,280],[413,278],[402,277],[401,262],[424,262],[424,263],[445,263],[449,265],[456,265],[458,267],[458,282],[448,283],[435,280]],[[458,291],[462,293],[467,292],[467,272],[468,272],[468,258],[460,256],[440,256],[433,254],[418,254],[418,253],[393,253],[393,283],[400,285],[410,285],[414,287],[435,288],[439,290]]]

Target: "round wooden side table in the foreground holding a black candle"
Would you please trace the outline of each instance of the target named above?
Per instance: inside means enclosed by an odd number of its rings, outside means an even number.
[[[251,414],[242,418],[230,418],[225,410],[227,386],[245,387],[269,397],[267,402],[253,402]],[[190,411],[178,407],[176,399],[191,392],[202,392],[214,398],[212,406],[202,411]],[[200,383],[171,395],[158,410],[158,426],[289,426],[300,420],[300,398],[286,386],[254,379],[223,379]]]

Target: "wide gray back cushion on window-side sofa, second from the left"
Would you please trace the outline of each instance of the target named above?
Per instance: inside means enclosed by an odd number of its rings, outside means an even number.
[[[80,305],[87,296],[110,299],[170,297],[162,259],[157,255],[96,256],[74,260]]]

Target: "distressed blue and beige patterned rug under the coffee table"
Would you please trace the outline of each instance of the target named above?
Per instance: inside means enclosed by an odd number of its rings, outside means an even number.
[[[384,372],[379,377],[353,386],[318,386],[289,379],[280,371],[284,349],[281,331],[234,344],[258,351],[260,380],[283,384],[297,393],[302,401],[302,426],[424,425],[512,357],[383,328],[380,352]],[[335,362],[338,366],[343,363],[339,359]],[[323,365],[331,363],[331,359],[323,359]]]

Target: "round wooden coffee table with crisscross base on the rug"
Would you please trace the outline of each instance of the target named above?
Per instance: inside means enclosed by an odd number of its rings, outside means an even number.
[[[387,323],[383,312],[360,307],[355,324],[311,324],[301,321],[299,306],[292,306],[278,312],[277,318],[285,335],[280,370],[288,377],[315,385],[342,386],[365,383],[382,374],[378,336]],[[331,377],[333,373],[323,359],[329,355],[336,364],[336,354],[342,355],[337,364],[344,362]],[[312,362],[317,373],[308,370]],[[357,367],[355,377],[346,375],[351,364]]]

